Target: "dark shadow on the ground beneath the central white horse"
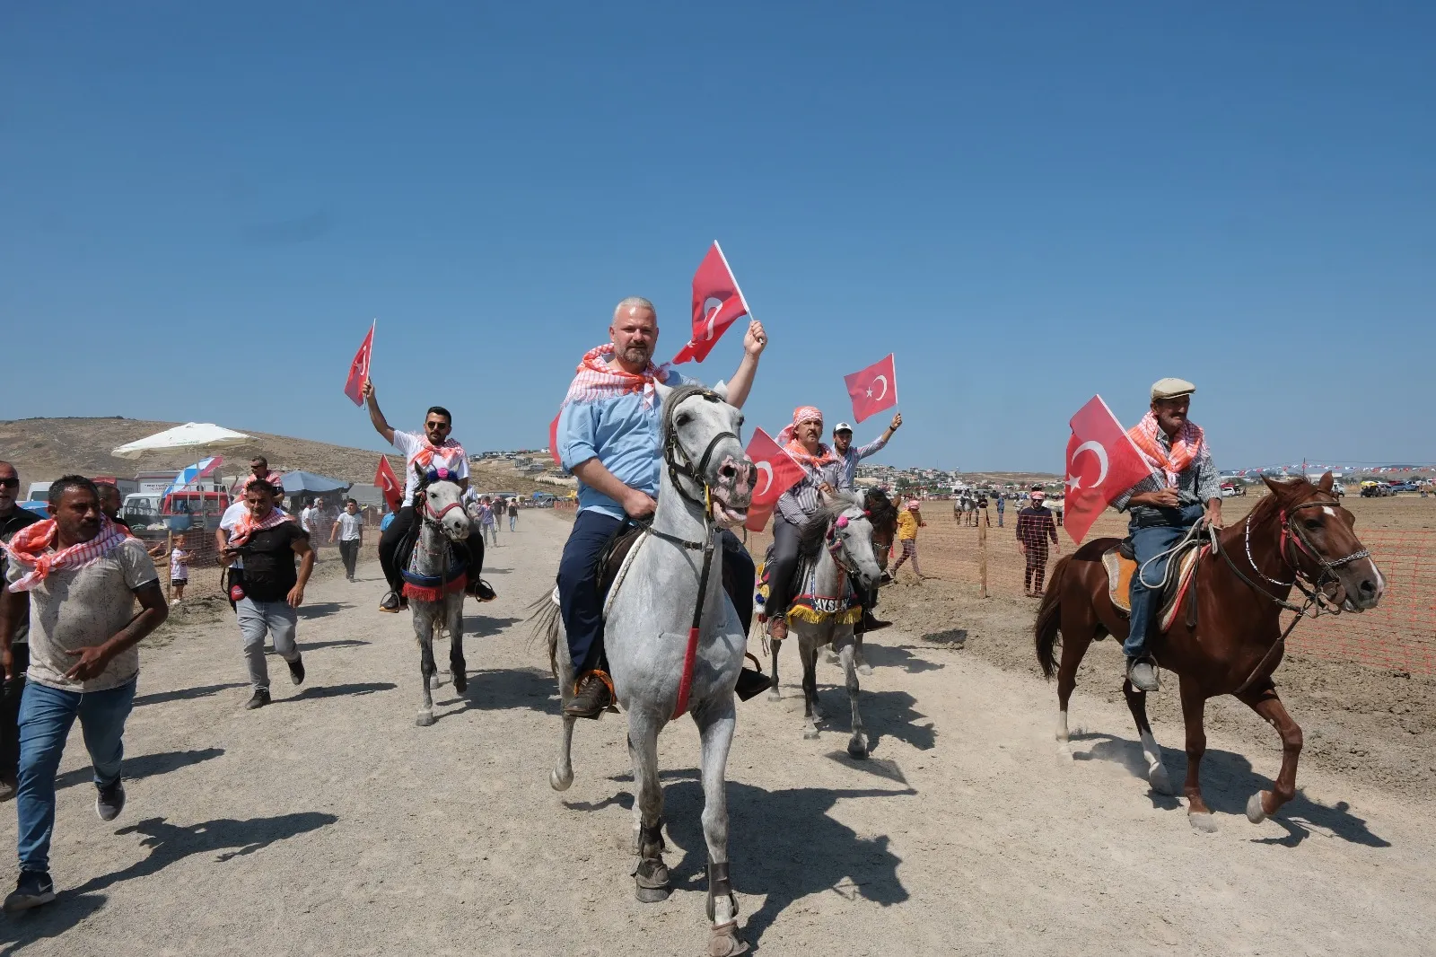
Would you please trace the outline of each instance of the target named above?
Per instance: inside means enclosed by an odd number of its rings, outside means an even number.
[[[708,843],[702,831],[704,792],[696,780],[698,772],[671,770],[661,776],[669,782],[663,787],[663,819],[672,838],[665,855],[669,877],[678,889],[707,892]],[[619,776],[613,780],[632,779]],[[827,812],[841,799],[916,793],[910,787],[764,790],[729,780],[732,887],[740,894],[767,895],[763,907],[751,915],[740,915],[742,938],[757,947],[784,910],[813,894],[831,892],[849,901],[863,898],[883,907],[906,901],[908,889],[898,878],[902,858],[889,849],[887,835],[860,838]],[[564,802],[572,810],[597,810],[612,805],[632,809],[633,795],[620,792],[595,803]],[[681,856],[675,858],[678,854]],[[763,861],[761,869],[752,864],[755,861]]]

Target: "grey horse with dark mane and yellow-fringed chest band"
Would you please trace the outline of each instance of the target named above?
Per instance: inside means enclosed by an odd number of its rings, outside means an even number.
[[[788,631],[797,635],[803,660],[803,737],[816,739],[817,723],[823,720],[817,703],[817,651],[831,645],[843,665],[853,708],[847,753],[863,759],[867,757],[867,736],[857,708],[860,638],[853,634],[862,609],[852,585],[866,592],[882,578],[882,562],[873,549],[873,523],[863,510],[862,496],[837,493],[823,497],[823,507],[808,519],[800,536],[798,550],[804,558],[797,570],[797,601],[788,609]]]

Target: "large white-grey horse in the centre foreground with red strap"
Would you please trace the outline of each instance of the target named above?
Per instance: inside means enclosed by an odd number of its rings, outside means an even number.
[[[633,760],[633,869],[638,900],[669,895],[663,864],[663,789],[658,779],[658,733],[682,716],[685,655],[694,651],[686,710],[702,740],[704,839],[708,843],[708,954],[731,957],[748,950],[738,937],[738,901],[728,879],[728,805],[725,772],[734,731],[734,684],[742,667],[744,628],[722,589],[718,526],[745,517],[752,497],[752,463],[738,440],[742,414],[728,405],[722,384],[714,391],[659,385],[663,402],[663,467],[652,526],[615,585],[605,625],[609,674],[628,711]],[[696,648],[691,645],[701,606]],[[540,612],[550,661],[564,706],[573,697],[573,662],[557,608]],[[547,621],[544,621],[547,618]],[[559,760],[549,783],[573,783],[570,749],[574,718],[563,718]]]

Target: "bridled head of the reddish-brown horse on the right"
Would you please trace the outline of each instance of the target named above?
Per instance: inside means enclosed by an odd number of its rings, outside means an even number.
[[[1344,611],[1376,608],[1386,578],[1356,535],[1356,516],[1331,494],[1331,473],[1317,484],[1304,477],[1262,481],[1271,489],[1287,563]]]

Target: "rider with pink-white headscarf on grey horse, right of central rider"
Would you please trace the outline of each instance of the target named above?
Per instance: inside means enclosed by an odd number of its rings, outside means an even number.
[[[778,445],[803,467],[803,477],[778,497],[773,516],[773,559],[768,562],[768,635],[788,637],[788,605],[793,576],[798,569],[798,530],[823,503],[820,493],[833,493],[841,461],[823,437],[823,412],[814,405],[793,410],[793,424],[778,433]]]

